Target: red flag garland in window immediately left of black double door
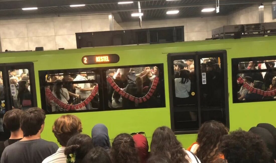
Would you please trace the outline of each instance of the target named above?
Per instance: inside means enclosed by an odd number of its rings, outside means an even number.
[[[118,92],[122,97],[127,98],[131,101],[134,101],[135,103],[142,103],[142,102],[146,102],[147,100],[149,100],[150,97],[152,97],[153,93],[156,90],[158,81],[159,81],[159,78],[156,76],[153,79],[152,86],[150,87],[150,90],[148,91],[148,93],[145,96],[138,98],[138,97],[134,97],[134,96],[124,92],[123,90],[121,90],[121,88],[118,87],[118,85],[113,81],[113,79],[111,77],[107,77],[107,82],[110,83],[110,85],[113,87],[113,89],[116,92]]]

